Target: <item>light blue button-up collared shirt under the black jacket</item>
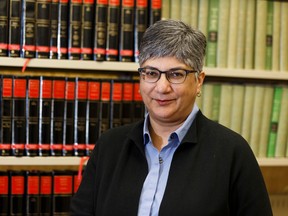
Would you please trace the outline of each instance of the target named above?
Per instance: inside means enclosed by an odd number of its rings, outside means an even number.
[[[195,104],[184,124],[171,133],[168,139],[168,144],[164,146],[160,152],[152,144],[148,129],[149,113],[146,114],[143,136],[149,172],[143,184],[139,201],[138,216],[158,215],[174,152],[186,135],[198,110],[199,108]]]

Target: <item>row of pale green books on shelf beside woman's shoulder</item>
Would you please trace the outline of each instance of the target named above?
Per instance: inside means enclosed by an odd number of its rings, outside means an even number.
[[[241,134],[257,157],[288,157],[288,85],[207,82],[197,103]]]

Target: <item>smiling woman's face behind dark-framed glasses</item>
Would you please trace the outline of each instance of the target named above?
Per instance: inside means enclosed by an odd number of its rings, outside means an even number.
[[[149,59],[141,67],[153,67],[160,71],[172,68],[193,70],[175,57]],[[165,74],[161,74],[156,83],[140,79],[140,93],[150,114],[150,118],[163,123],[183,122],[192,111],[197,93],[204,81],[204,72],[196,80],[194,73],[189,73],[181,84],[172,84]]]

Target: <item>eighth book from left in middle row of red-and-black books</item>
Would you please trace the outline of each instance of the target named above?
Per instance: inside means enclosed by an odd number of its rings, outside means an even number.
[[[95,79],[88,80],[88,100],[87,100],[87,116],[88,116],[88,141],[86,145],[86,155],[90,155],[100,133],[100,81]]]

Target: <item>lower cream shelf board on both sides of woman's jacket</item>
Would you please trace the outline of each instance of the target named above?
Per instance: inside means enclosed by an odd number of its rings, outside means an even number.
[[[81,157],[0,157],[1,166],[78,166]],[[259,158],[262,167],[288,167],[288,158]]]

